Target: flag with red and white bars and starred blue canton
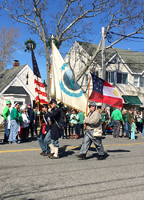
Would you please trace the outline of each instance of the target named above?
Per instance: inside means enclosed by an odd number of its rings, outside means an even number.
[[[107,81],[91,73],[93,90],[89,100],[109,104],[113,107],[123,107],[122,97]]]

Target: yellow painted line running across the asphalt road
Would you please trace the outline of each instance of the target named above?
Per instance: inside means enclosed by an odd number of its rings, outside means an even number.
[[[142,142],[142,143],[130,143],[130,144],[107,144],[107,145],[104,145],[104,147],[140,145],[140,144],[144,144],[144,142]],[[91,147],[95,147],[95,146],[91,146]],[[76,148],[80,148],[80,146],[60,147],[60,149],[76,149]],[[13,152],[23,152],[23,151],[40,151],[40,150],[41,150],[40,148],[39,149],[19,149],[19,150],[0,151],[0,153],[13,153]]]

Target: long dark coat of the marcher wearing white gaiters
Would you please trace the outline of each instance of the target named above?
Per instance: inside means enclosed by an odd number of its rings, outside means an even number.
[[[48,112],[47,117],[51,119],[51,139],[58,139],[61,137],[59,129],[59,121],[61,117],[61,109],[55,108]],[[56,123],[57,122],[57,123]]]

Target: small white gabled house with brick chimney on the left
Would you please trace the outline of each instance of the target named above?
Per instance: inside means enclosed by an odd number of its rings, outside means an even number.
[[[34,104],[35,87],[33,71],[28,65],[19,66],[16,60],[13,68],[0,72],[0,114],[6,105],[6,101],[10,100],[12,105],[18,101],[20,105],[24,103]],[[3,118],[0,116],[0,123]]]

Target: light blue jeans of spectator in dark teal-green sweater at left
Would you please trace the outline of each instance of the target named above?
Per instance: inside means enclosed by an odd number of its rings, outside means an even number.
[[[17,135],[18,135],[18,123],[15,120],[11,120],[10,126],[10,142],[17,142]]]

